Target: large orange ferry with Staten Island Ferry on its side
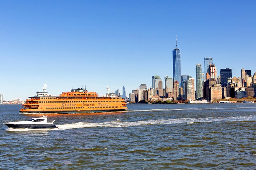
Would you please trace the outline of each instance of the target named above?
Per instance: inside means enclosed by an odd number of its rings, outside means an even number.
[[[62,92],[60,96],[51,96],[46,92],[36,92],[36,96],[26,99],[20,113],[94,113],[108,111],[123,111],[128,109],[124,99],[116,97],[114,93],[106,93],[99,97],[96,92],[88,92],[83,88]]]

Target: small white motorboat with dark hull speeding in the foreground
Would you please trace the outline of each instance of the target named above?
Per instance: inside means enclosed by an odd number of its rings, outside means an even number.
[[[47,123],[47,116],[32,118],[29,121],[6,122],[6,126],[11,128],[29,128],[29,129],[45,129],[45,128],[58,128],[53,122]]]

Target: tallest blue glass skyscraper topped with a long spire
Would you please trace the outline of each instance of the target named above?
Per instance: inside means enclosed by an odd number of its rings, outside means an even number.
[[[181,87],[181,50],[177,48],[177,35],[176,35],[176,48],[172,51],[172,71],[173,81],[178,81]]]

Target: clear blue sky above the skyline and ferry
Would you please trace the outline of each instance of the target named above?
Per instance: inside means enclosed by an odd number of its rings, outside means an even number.
[[[256,71],[256,1],[1,1],[0,93],[25,100],[86,85],[127,96],[151,76],[172,77],[177,34],[181,74],[213,57],[218,75]]]

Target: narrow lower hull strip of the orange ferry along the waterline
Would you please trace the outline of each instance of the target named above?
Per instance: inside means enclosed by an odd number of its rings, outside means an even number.
[[[59,113],[59,114],[70,114],[70,113],[102,113],[102,112],[117,112],[125,111],[125,109],[115,109],[115,110],[57,110],[57,111],[22,111],[20,114],[31,114],[31,113]]]

